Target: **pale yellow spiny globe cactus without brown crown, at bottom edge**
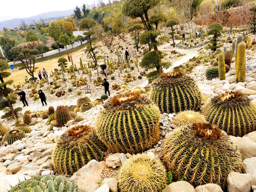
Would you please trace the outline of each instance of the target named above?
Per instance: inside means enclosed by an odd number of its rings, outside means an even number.
[[[121,167],[118,183],[120,192],[160,192],[167,185],[165,167],[159,159],[134,155]]]

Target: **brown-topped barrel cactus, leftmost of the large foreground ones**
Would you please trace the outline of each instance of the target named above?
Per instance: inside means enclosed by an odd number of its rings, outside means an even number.
[[[92,159],[101,161],[105,151],[105,145],[91,127],[75,126],[61,135],[52,151],[54,170],[72,175]]]

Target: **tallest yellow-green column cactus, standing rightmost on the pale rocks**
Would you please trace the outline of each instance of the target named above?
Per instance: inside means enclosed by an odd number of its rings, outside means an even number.
[[[245,50],[246,50],[246,44],[243,42],[239,43],[237,48],[237,58],[236,58],[236,81],[237,82],[245,81],[245,72],[246,72]]]

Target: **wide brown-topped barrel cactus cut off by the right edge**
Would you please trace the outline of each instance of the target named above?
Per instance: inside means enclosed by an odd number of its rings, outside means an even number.
[[[256,130],[256,106],[239,92],[218,94],[206,103],[202,113],[229,135],[243,137]]]

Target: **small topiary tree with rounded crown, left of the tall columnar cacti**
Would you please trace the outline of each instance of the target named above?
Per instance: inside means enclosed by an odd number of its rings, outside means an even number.
[[[212,43],[211,50],[216,51],[217,48],[220,47],[220,46],[217,46],[217,37],[221,35],[223,27],[220,23],[214,22],[209,26],[208,29],[209,29],[208,35],[213,35],[213,38],[211,41]]]

